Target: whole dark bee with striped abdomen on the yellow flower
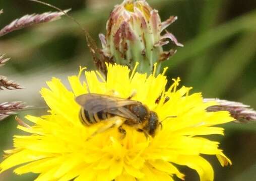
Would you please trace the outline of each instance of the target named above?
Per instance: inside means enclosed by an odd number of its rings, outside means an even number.
[[[93,135],[104,132],[107,129],[118,127],[118,131],[126,134],[122,125],[135,128],[139,132],[144,132],[146,137],[154,137],[156,130],[161,126],[156,112],[149,110],[146,105],[139,101],[106,96],[100,94],[84,94],[76,98],[76,102],[81,106],[79,119],[85,126],[91,126],[99,122],[106,122]]]

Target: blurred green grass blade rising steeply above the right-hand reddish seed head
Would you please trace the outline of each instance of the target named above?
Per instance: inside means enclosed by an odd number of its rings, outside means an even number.
[[[202,92],[220,97],[242,73],[256,53],[256,32],[246,33],[219,59],[212,72],[205,79]],[[223,71],[223,67],[225,71]],[[221,80],[221,81],[219,81]]]

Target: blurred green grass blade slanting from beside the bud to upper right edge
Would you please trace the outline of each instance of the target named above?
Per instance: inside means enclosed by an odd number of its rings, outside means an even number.
[[[256,11],[239,16],[225,24],[219,25],[205,33],[199,34],[192,40],[184,43],[184,48],[169,61],[169,68],[173,69],[184,61],[191,60],[213,46],[224,42],[228,38],[242,32],[256,31]],[[193,59],[192,59],[193,60]]]

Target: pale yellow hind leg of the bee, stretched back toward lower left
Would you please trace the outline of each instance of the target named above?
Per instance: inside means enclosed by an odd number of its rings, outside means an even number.
[[[121,119],[118,116],[114,116],[102,121],[106,122],[106,124],[100,127],[97,131],[95,131],[90,137],[87,138],[87,140],[89,140],[91,137],[95,136],[96,134],[103,133],[114,127],[119,127],[123,123],[123,119]]]

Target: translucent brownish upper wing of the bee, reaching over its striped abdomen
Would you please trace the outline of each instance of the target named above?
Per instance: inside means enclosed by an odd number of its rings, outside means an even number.
[[[114,108],[120,108],[127,105],[138,104],[137,101],[116,98],[112,96],[99,94],[84,94],[76,98],[76,102],[90,113],[98,113],[100,111],[107,112]]]

